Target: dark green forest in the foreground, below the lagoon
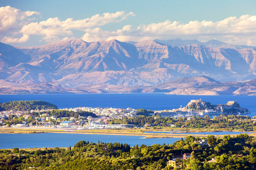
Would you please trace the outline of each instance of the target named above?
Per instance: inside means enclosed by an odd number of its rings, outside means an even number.
[[[205,139],[205,138],[202,138]],[[189,153],[188,159],[175,159],[180,169],[256,169],[256,138],[239,134],[215,138],[208,135],[207,145],[188,136],[172,145],[129,146],[126,143],[79,141],[74,147],[41,149],[1,149],[0,169],[173,169],[169,160]],[[214,162],[209,162],[214,158]]]

